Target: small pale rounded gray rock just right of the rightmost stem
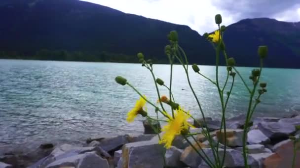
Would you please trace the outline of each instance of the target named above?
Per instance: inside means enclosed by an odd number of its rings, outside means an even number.
[[[250,130],[247,136],[249,144],[266,144],[270,142],[270,139],[261,130]]]

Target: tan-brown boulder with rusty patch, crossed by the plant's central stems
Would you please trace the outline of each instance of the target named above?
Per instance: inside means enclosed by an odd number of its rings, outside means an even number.
[[[217,131],[217,139],[222,144],[226,146],[235,147],[243,145],[243,134],[244,130],[242,129],[226,129],[226,137],[224,129],[222,131]]]

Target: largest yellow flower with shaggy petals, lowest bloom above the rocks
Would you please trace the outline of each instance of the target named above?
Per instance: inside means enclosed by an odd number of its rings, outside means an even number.
[[[161,129],[165,133],[158,143],[164,143],[167,149],[170,148],[175,136],[180,135],[182,131],[188,130],[188,127],[190,125],[188,124],[189,117],[190,115],[184,112],[181,108],[176,110],[176,112],[174,113],[174,119],[172,117],[169,118],[169,123]]]

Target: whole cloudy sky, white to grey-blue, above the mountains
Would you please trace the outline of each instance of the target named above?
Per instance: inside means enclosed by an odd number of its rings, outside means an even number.
[[[200,34],[216,29],[215,14],[223,24],[245,18],[269,17],[300,21],[300,0],[85,0],[125,13],[142,15],[175,24],[188,25]]]

